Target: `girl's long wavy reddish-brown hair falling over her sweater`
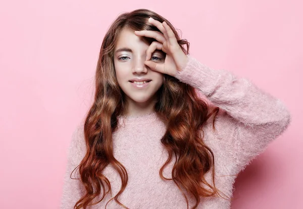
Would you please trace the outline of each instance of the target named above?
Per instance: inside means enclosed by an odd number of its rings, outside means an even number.
[[[132,30],[153,30],[161,33],[156,26],[148,23],[149,17],[161,23],[166,21],[173,30],[183,52],[189,54],[189,42],[186,39],[181,40],[173,25],[153,11],[134,10],[121,14],[112,23],[100,49],[95,72],[94,101],[84,122],[86,155],[77,166],[79,167],[80,180],[86,192],[76,202],[74,209],[81,207],[85,209],[88,205],[97,204],[109,192],[112,193],[110,181],[102,173],[109,164],[117,170],[122,181],[120,191],[109,201],[115,199],[118,204],[128,208],[118,200],[118,196],[127,185],[127,171],[113,155],[112,133],[117,130],[118,116],[127,112],[125,94],[119,87],[116,78],[114,49],[119,34],[126,27]],[[156,41],[153,38],[142,38],[149,44]],[[186,45],[186,50],[183,45]],[[196,204],[192,208],[196,208],[200,202],[200,197],[220,195],[220,190],[215,186],[214,154],[203,142],[204,132],[202,130],[203,125],[214,113],[213,128],[215,128],[214,122],[219,107],[209,111],[208,103],[198,97],[193,87],[166,74],[164,78],[164,83],[157,92],[158,100],[154,110],[157,116],[167,124],[161,143],[167,150],[169,157],[161,167],[159,175],[163,180],[175,182],[185,197],[187,208],[188,200],[180,185],[191,193],[196,200]],[[201,136],[201,131],[203,136]],[[172,169],[172,178],[165,178],[163,170],[171,162],[173,154],[176,160]],[[209,171],[212,171],[214,186],[209,184],[204,177]],[[203,184],[210,187],[212,191],[204,188]],[[105,185],[109,188],[107,191]],[[100,195],[101,190],[103,191],[101,198],[91,203],[95,197]],[[228,196],[226,197],[228,198]]]

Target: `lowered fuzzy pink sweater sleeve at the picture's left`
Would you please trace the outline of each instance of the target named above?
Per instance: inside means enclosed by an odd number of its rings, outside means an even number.
[[[79,125],[72,134],[72,140],[67,151],[67,166],[64,176],[63,193],[61,197],[61,209],[74,208],[76,202],[83,196],[85,192],[85,188],[80,180],[75,179],[80,178],[79,170],[78,168],[75,168],[83,159],[85,151],[83,127]]]

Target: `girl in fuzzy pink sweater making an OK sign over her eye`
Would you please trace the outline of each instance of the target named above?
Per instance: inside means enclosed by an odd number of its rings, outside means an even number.
[[[237,174],[286,130],[290,114],[188,48],[153,11],[113,22],[93,104],[69,147],[61,208],[230,208]]]

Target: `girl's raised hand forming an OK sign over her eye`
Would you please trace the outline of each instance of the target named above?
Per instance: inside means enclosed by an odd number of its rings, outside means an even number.
[[[187,55],[182,51],[174,32],[165,21],[160,23],[153,18],[149,18],[148,22],[155,25],[163,34],[159,31],[151,30],[135,31],[135,35],[137,36],[146,36],[157,40],[152,42],[147,48],[146,61],[144,64],[153,71],[175,76],[178,71],[181,71],[186,66],[188,61]],[[148,60],[156,49],[166,53],[164,63],[156,63]]]

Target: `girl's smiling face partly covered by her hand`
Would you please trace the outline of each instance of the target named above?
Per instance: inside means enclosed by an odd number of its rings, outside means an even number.
[[[124,28],[119,35],[114,54],[119,86],[125,93],[127,102],[140,107],[146,107],[150,102],[155,101],[156,93],[163,84],[163,74],[151,70],[144,64],[148,47],[149,45],[143,42],[140,36],[136,36],[134,31]],[[151,54],[150,59],[164,63],[165,53],[157,49]],[[135,84],[130,82],[133,79],[150,82],[143,85]]]

